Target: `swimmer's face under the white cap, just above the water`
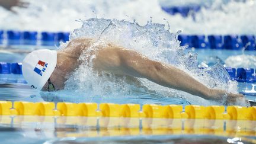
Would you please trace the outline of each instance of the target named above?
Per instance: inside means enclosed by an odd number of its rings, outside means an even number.
[[[56,67],[55,70],[53,71],[52,75],[50,76],[50,81],[54,85],[56,91],[64,88],[64,82],[66,80],[65,80],[65,76],[63,74],[64,73],[62,71],[60,71],[59,68]],[[46,82],[46,84],[44,84],[44,87],[41,90],[47,91],[48,85],[49,85],[48,82]]]

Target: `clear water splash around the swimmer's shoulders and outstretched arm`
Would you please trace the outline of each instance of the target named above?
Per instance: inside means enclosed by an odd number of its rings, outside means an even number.
[[[117,76],[106,72],[93,72],[92,60],[94,55],[89,53],[101,49],[108,43],[114,43],[127,49],[134,49],[159,62],[169,63],[189,73],[202,84],[210,88],[226,89],[237,93],[237,83],[231,82],[228,73],[222,65],[210,66],[206,69],[197,68],[197,55],[191,52],[185,53],[185,47],[180,46],[177,34],[171,34],[163,24],[149,22],[141,26],[135,22],[92,18],[81,21],[82,28],[71,33],[70,40],[87,37],[95,39],[89,49],[79,57],[82,63],[79,68],[69,76],[65,82],[65,91],[75,91],[76,95],[84,97],[97,96],[108,97],[111,95],[137,95],[153,94],[162,97],[183,98],[193,104],[209,105],[223,104],[223,101],[207,101],[203,98],[187,94],[186,92],[162,87],[148,79],[129,78],[129,76]],[[60,49],[65,49],[67,43],[63,43]],[[224,97],[223,97],[224,98]],[[245,103],[240,104],[245,105]]]

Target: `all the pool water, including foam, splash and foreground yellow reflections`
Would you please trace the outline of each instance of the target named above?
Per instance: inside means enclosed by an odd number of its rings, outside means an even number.
[[[188,1],[184,1],[185,6],[190,5]],[[195,2],[199,7],[204,3]],[[157,0],[31,0],[27,9],[16,8],[17,15],[16,12],[11,13],[0,8],[0,28],[39,33],[49,31],[50,34],[72,31],[71,40],[76,37],[102,38],[119,46],[136,48],[138,52],[153,60],[171,63],[195,76],[208,87],[229,89],[231,92],[251,89],[253,83],[242,82],[237,83],[236,89],[236,82],[228,82],[228,75],[222,65],[256,69],[255,51],[216,50],[209,47],[184,50],[175,37],[180,33],[177,32],[179,30],[183,31],[181,34],[203,36],[255,34],[255,18],[251,11],[255,10],[256,3],[226,0],[205,2],[212,6],[201,7],[196,13],[186,15],[188,17],[182,17],[180,14],[171,16],[162,11],[161,7],[165,6],[183,6],[180,2],[171,3],[168,5],[168,1],[164,0],[161,5]],[[92,19],[80,20],[85,14],[85,19]],[[121,21],[123,19],[130,20],[131,23]],[[72,23],[74,20],[79,20],[79,23]],[[78,28],[81,24],[82,28]],[[78,29],[73,30],[74,28]],[[7,34],[2,36],[8,37]],[[5,39],[4,44],[0,46],[0,62],[22,62],[31,50],[56,49],[54,46],[39,46],[44,41],[43,34],[40,36],[37,46],[6,47]],[[63,46],[65,44],[60,48]],[[203,69],[197,71],[198,66]],[[140,105],[223,104],[222,101],[203,100],[185,92],[159,87],[145,79],[139,80],[146,88],[126,84],[119,78],[107,82],[105,77],[101,79],[92,73],[86,75],[87,68],[87,65],[82,65],[66,82],[66,89],[57,92],[34,91],[24,84],[22,75],[0,75],[0,100]],[[101,82],[98,82],[99,80]],[[245,97],[256,101],[256,96]],[[256,143],[255,127],[256,121],[250,120],[0,116],[0,139],[1,143]]]

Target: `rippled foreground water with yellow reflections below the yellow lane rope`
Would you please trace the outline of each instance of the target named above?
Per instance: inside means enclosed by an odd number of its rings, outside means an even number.
[[[1,142],[255,143],[255,121],[1,116]],[[9,135],[15,139],[9,139]]]

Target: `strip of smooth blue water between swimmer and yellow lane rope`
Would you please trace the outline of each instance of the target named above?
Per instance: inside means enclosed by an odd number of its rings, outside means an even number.
[[[188,101],[161,97],[161,95],[138,92],[137,95],[120,95],[114,97],[84,97],[74,92],[39,92],[34,91],[24,84],[1,84],[0,100],[2,101],[49,101],[49,102],[71,102],[71,103],[134,103],[134,104],[190,104]]]

